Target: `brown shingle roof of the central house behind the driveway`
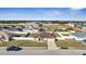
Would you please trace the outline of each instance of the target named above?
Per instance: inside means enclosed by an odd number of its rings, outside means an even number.
[[[38,34],[32,34],[29,35],[29,37],[34,37],[34,38],[54,38],[54,36],[50,33],[47,33],[47,31],[40,31]]]

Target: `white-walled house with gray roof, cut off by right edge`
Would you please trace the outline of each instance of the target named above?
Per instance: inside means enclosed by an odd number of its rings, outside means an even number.
[[[75,40],[86,40],[86,33],[79,31],[71,34],[72,37],[74,37]]]

